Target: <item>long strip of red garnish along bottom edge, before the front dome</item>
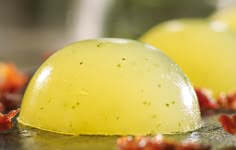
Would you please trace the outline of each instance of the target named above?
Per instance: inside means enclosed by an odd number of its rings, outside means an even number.
[[[178,143],[156,137],[121,137],[117,140],[119,150],[210,150],[210,146],[197,143]]]

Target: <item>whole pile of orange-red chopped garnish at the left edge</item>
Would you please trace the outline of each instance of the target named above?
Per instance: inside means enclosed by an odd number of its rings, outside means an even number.
[[[12,119],[20,111],[22,90],[27,80],[15,64],[0,62],[0,131],[13,127]]]

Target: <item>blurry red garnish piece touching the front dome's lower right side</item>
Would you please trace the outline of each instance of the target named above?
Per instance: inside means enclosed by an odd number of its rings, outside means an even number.
[[[207,89],[195,88],[201,112],[215,110],[218,108],[211,92]]]

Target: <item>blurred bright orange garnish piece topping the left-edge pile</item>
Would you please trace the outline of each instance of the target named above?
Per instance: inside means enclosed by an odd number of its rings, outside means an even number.
[[[0,93],[15,92],[26,84],[26,75],[20,73],[13,63],[0,63]]]

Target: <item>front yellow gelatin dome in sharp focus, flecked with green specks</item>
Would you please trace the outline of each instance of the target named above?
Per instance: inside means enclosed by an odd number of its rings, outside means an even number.
[[[185,74],[163,52],[126,39],[69,45],[37,70],[18,121],[72,135],[147,135],[201,126]]]

